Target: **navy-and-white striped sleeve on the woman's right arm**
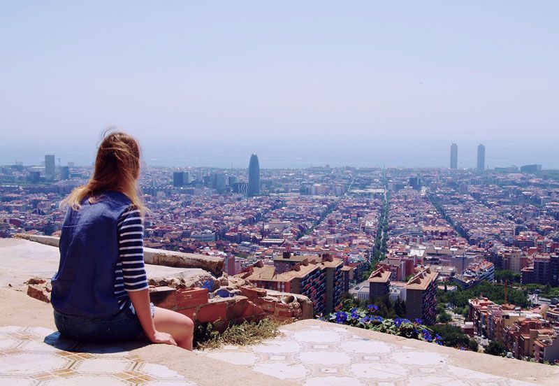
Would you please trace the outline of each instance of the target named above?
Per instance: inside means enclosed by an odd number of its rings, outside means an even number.
[[[144,227],[140,210],[131,208],[118,221],[118,246],[122,285],[127,292],[145,290],[147,276],[144,266]],[[120,284],[120,283],[117,283]]]

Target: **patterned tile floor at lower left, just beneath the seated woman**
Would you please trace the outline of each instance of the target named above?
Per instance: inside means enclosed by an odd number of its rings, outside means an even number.
[[[119,347],[66,341],[43,328],[0,327],[0,385],[196,386]]]

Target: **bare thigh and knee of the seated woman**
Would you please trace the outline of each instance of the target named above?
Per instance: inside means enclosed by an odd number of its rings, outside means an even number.
[[[177,346],[192,351],[194,322],[189,317],[175,313],[175,311],[156,307],[153,322],[157,331],[171,334],[177,342]]]

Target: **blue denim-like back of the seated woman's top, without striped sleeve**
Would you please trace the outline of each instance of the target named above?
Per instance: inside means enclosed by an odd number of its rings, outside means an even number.
[[[119,262],[117,222],[130,199],[107,191],[99,201],[68,209],[60,236],[60,263],[52,277],[52,306],[59,313],[89,317],[119,311],[115,269]]]

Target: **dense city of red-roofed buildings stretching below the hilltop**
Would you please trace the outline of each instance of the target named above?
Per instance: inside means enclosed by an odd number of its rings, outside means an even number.
[[[537,164],[487,169],[485,154],[477,169],[458,169],[456,143],[449,169],[148,166],[145,246],[223,257],[229,276],[308,296],[316,317],[382,303],[445,344],[553,363],[559,180]],[[1,166],[0,237],[59,236],[59,201],[91,173],[55,155]]]

